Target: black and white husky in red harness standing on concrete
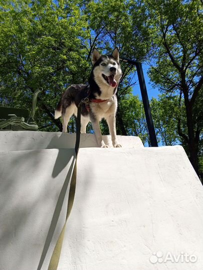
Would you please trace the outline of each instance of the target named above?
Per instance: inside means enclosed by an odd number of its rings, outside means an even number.
[[[64,92],[57,109],[55,118],[63,117],[63,132],[67,132],[70,117],[77,115],[77,106],[80,101],[88,97],[89,104],[81,106],[81,133],[86,133],[89,121],[96,135],[98,146],[108,147],[102,139],[99,122],[105,118],[114,147],[121,147],[116,138],[116,91],[122,71],[119,63],[119,51],[116,47],[111,55],[101,55],[94,48],[92,52],[92,72],[89,84],[73,84]]]

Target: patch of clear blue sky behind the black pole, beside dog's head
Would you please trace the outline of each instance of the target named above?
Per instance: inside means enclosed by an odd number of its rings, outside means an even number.
[[[160,94],[160,92],[159,92],[158,88],[152,87],[152,84],[150,83],[150,79],[149,79],[149,77],[147,75],[148,68],[149,68],[149,65],[147,65],[146,63],[142,64],[142,69],[143,69],[143,72],[144,72],[144,78],[145,78],[147,93],[148,93],[148,97],[149,97],[149,100],[150,100],[152,97],[158,98],[158,94]],[[139,98],[141,99],[142,97],[141,97],[141,92],[140,92],[140,88],[139,88],[139,82],[138,82],[137,73],[136,73],[135,79],[136,79],[137,83],[133,87],[133,94],[134,95],[139,95]]]

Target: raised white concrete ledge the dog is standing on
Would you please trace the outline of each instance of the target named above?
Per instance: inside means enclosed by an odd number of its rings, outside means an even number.
[[[106,144],[112,146],[111,137],[103,136]],[[144,147],[141,139],[135,136],[118,136],[122,147]],[[75,133],[42,131],[0,131],[0,151],[31,149],[75,148]],[[81,134],[80,147],[97,147],[94,134]],[[113,147],[113,146],[112,146]]]

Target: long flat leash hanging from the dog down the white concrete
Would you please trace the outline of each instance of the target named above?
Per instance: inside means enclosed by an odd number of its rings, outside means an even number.
[[[61,233],[59,235],[59,238],[56,242],[56,245],[54,247],[54,251],[53,251],[51,259],[50,259],[48,270],[57,270],[60,255],[61,255],[61,248],[62,248],[62,244],[63,244],[63,240],[64,240],[64,234],[66,231],[66,223],[67,223],[68,217],[69,217],[71,210],[72,210],[72,207],[73,207],[73,202],[74,202],[74,197],[75,197],[75,189],[76,189],[76,177],[77,177],[77,157],[78,157],[78,151],[79,151],[79,146],[80,146],[81,104],[82,103],[86,104],[88,102],[89,102],[89,98],[85,97],[80,101],[80,103],[78,105],[77,122],[76,122],[75,164],[74,164],[73,174],[72,174],[71,182],[70,182],[66,220],[65,220],[64,226],[61,230]]]

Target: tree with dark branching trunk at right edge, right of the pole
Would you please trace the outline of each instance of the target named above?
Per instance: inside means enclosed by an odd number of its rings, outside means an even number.
[[[203,14],[200,0],[143,0],[150,25],[150,78],[163,93],[184,100],[186,128],[180,117],[177,132],[198,173],[202,134]],[[134,13],[136,16],[136,13]]]

